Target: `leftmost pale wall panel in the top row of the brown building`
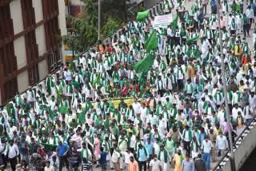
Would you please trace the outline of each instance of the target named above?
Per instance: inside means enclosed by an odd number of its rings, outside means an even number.
[[[10,16],[13,19],[14,34],[18,34],[23,30],[22,6],[20,0],[10,2]]]

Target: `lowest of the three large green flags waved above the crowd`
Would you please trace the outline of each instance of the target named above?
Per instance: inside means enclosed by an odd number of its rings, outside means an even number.
[[[134,70],[136,73],[142,73],[143,71],[150,70],[153,64],[154,56],[152,54],[148,54],[146,58],[143,58],[134,65]]]

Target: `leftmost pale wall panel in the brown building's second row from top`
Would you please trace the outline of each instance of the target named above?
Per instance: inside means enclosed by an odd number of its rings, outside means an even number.
[[[17,58],[18,70],[26,66],[26,48],[24,36],[14,40],[14,54]]]

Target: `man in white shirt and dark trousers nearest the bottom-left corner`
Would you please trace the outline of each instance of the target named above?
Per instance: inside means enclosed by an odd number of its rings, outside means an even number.
[[[18,146],[14,145],[14,141],[10,140],[10,144],[6,146],[6,156],[9,158],[10,167],[12,170],[16,169],[16,165],[18,163]]]

